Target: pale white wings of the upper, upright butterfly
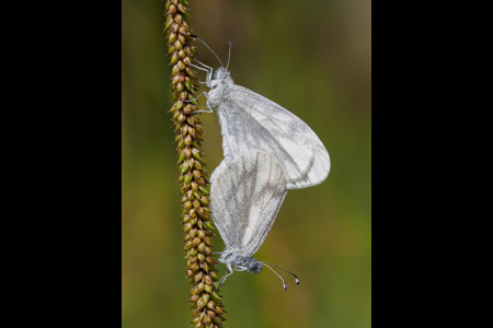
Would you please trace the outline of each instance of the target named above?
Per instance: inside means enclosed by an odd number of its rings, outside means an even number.
[[[271,153],[284,167],[288,190],[328,177],[331,161],[323,143],[289,110],[243,86],[228,85],[217,113],[227,163],[253,150]]]

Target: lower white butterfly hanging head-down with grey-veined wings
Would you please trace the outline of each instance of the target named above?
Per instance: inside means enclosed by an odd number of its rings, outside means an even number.
[[[219,262],[225,263],[228,274],[218,286],[236,271],[259,273],[265,265],[253,254],[262,246],[276,220],[286,197],[286,178],[279,162],[268,153],[248,152],[217,174],[210,188],[213,220],[226,244]],[[296,278],[298,277],[283,269]],[[274,271],[274,270],[273,270]],[[277,272],[274,271],[276,274]],[[283,280],[284,289],[286,282]]]

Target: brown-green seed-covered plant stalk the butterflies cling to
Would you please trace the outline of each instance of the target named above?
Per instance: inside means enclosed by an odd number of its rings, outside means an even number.
[[[191,308],[194,309],[190,324],[196,324],[195,328],[223,327],[226,313],[222,307],[221,296],[216,286],[218,274],[217,261],[211,257],[214,224],[209,210],[209,191],[207,171],[204,168],[204,153],[200,150],[202,124],[195,114],[198,110],[194,103],[185,102],[195,97],[198,90],[196,74],[191,62],[197,52],[191,45],[194,39],[190,36],[192,30],[187,23],[190,17],[188,4],[185,0],[165,1],[164,32],[168,38],[168,55],[170,56],[171,92],[173,105],[169,113],[172,114],[175,132],[174,142],[177,143],[179,183],[182,184],[182,224],[183,243],[186,251],[186,278],[193,284],[190,292]]]

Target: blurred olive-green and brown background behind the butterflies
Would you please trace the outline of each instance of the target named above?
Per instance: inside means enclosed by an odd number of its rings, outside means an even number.
[[[223,285],[225,327],[371,326],[371,2],[188,0],[188,23],[234,82],[307,122],[332,161],[328,179],[288,192],[255,258],[268,269]],[[176,151],[163,3],[122,1],[122,319],[193,327],[181,249]],[[196,43],[200,61],[217,59]],[[199,73],[202,80],[204,74]],[[200,90],[202,92],[203,90]],[[197,93],[198,94],[198,93]],[[200,98],[200,107],[205,98]],[[222,159],[216,114],[202,114],[209,174]],[[216,249],[222,250],[219,235]],[[219,276],[225,274],[223,266]]]

